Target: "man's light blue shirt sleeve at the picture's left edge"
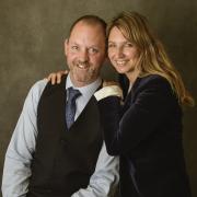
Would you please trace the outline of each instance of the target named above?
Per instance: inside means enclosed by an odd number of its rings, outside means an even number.
[[[31,176],[32,153],[37,136],[36,116],[46,80],[37,82],[25,100],[23,111],[7,150],[2,176],[3,197],[24,197]]]

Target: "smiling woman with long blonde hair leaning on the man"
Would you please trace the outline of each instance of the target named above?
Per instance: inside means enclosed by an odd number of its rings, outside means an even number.
[[[193,97],[144,16],[123,12],[107,35],[125,101],[107,82],[95,97],[107,151],[120,158],[120,196],[189,197],[182,105],[194,105]]]

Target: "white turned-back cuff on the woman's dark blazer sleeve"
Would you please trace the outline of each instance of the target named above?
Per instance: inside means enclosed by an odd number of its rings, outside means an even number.
[[[94,93],[97,101],[103,100],[107,96],[118,96],[123,99],[123,91],[117,85],[104,86]]]

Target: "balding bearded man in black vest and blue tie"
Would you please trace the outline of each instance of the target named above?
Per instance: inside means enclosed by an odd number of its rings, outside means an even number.
[[[105,27],[94,15],[77,20],[65,42],[69,74],[31,89],[5,154],[3,197],[112,195],[118,159],[106,153],[93,96],[102,83]]]

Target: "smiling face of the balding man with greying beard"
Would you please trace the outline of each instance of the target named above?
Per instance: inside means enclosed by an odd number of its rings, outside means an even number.
[[[72,83],[83,86],[100,74],[105,60],[105,35],[100,25],[79,22],[65,43],[67,63]]]

